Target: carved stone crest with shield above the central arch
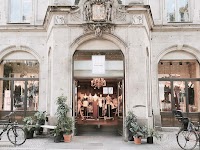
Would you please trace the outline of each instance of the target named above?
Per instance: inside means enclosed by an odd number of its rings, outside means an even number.
[[[96,36],[101,36],[103,31],[111,31],[113,0],[86,0],[83,10],[86,32],[94,31]]]

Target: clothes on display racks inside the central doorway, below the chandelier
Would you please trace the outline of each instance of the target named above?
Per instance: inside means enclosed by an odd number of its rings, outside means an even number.
[[[118,82],[106,80],[108,88],[112,92],[105,94],[103,89],[94,88],[90,85],[90,80],[81,80],[77,83],[76,116],[79,124],[117,124],[117,117],[122,114],[122,92],[118,89]],[[120,93],[119,93],[120,91]],[[121,111],[121,112],[119,112]],[[81,120],[81,121],[80,121]],[[109,122],[105,122],[110,120]]]

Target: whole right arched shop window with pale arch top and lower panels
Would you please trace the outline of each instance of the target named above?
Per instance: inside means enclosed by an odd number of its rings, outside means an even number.
[[[173,109],[199,121],[200,66],[197,58],[187,51],[171,51],[158,63],[159,102],[162,126],[180,125]]]

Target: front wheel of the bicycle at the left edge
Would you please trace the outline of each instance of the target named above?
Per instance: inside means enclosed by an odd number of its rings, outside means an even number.
[[[14,145],[22,145],[26,141],[26,134],[23,128],[12,126],[7,132],[8,140]]]

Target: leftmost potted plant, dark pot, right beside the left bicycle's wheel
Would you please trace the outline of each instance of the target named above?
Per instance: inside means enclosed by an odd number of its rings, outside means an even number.
[[[26,133],[26,138],[27,139],[31,139],[33,138],[33,134],[35,131],[35,120],[33,117],[29,116],[29,117],[25,117],[23,119],[24,122],[24,131]]]

